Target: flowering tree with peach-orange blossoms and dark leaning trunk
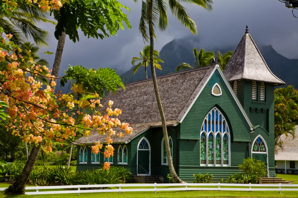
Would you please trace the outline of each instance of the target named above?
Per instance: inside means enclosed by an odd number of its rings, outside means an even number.
[[[121,128],[126,134],[131,134],[132,128],[128,123],[121,123],[117,116],[121,110],[112,109],[113,102],[109,101],[106,115],[95,112],[93,117],[83,114],[86,108],[103,107],[100,104],[104,90],[115,91],[118,86],[123,87],[120,77],[112,69],[86,69],[82,66],[69,66],[66,75],[55,77],[46,66],[36,65],[32,58],[22,56],[22,50],[8,39],[13,35],[6,35],[0,39],[0,100],[2,110],[0,117],[6,123],[7,129],[19,136],[24,142],[34,143],[29,160],[19,179],[13,183],[6,193],[23,194],[25,184],[30,176],[41,144],[44,141],[44,152],[52,151],[51,141],[63,144],[77,132],[88,136],[91,132],[106,135],[105,156],[113,155],[111,135],[113,128]],[[18,51],[18,56],[16,55]],[[28,51],[27,53],[30,53]],[[31,63],[28,66],[28,62]],[[49,85],[44,85],[41,78],[49,79]],[[54,79],[61,78],[61,84],[70,80],[72,93],[54,94]],[[113,116],[113,117],[112,117]],[[122,133],[117,134],[123,136]],[[94,153],[102,148],[101,142],[95,142],[92,147]],[[104,168],[108,169],[105,163]]]

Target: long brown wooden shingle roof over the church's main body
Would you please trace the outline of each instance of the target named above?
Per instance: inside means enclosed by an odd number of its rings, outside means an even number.
[[[181,121],[208,77],[214,71],[215,66],[214,64],[157,77],[167,126],[173,126]],[[112,100],[114,102],[112,109],[122,110],[122,114],[118,116],[119,120],[129,123],[133,132],[131,135],[124,135],[121,138],[115,135],[112,137],[113,142],[127,142],[150,127],[162,125],[152,79],[126,84],[125,89],[120,88],[116,93],[109,93],[101,102],[104,107],[100,107],[98,110],[104,115],[108,100]],[[116,134],[121,132],[116,128],[114,130]],[[105,138],[106,135],[98,135],[97,132],[92,132],[89,137],[82,137],[75,144],[94,143],[94,141],[105,142]]]

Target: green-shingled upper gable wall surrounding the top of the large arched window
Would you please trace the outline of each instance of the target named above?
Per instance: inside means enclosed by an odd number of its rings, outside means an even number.
[[[221,87],[221,96],[211,94],[215,83]],[[250,127],[217,70],[182,121],[180,139],[199,140],[204,118],[215,106],[225,114],[232,140],[249,142]]]

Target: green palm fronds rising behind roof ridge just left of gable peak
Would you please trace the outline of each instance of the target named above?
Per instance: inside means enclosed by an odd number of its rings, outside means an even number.
[[[195,57],[195,62],[193,63],[193,67],[190,66],[189,64],[182,63],[176,67],[176,72],[209,65],[211,59],[214,57],[214,53],[210,51],[208,52],[204,52],[204,51],[205,51],[204,49],[201,49],[198,53],[198,50],[196,48],[193,48],[193,56]]]

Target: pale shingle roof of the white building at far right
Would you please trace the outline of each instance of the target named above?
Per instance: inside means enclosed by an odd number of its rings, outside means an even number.
[[[298,134],[298,125],[296,125],[296,134]],[[288,137],[283,134],[280,137],[283,141],[283,150],[279,147],[276,147],[277,154],[275,154],[275,160],[291,160],[298,161],[298,137],[295,136],[293,139],[292,135]]]

